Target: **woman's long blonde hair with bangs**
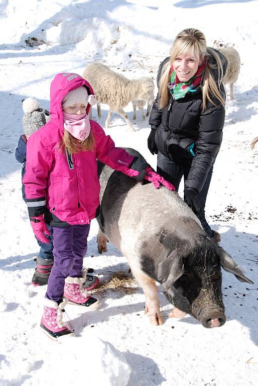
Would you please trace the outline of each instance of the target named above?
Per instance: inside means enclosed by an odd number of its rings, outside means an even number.
[[[211,95],[214,95],[215,98],[225,106],[225,100],[223,98],[222,92],[220,90],[220,85],[223,77],[222,63],[219,55],[216,51],[211,50],[207,47],[206,39],[203,33],[195,28],[187,28],[176,36],[173,46],[170,50],[170,60],[162,68],[161,78],[159,82],[159,106],[161,109],[165,108],[168,105],[168,83],[170,81],[170,67],[173,64],[173,61],[177,56],[189,54],[199,58],[201,61],[205,58],[209,59],[210,56],[213,56],[216,64],[210,63],[210,60],[207,60],[205,66],[203,79],[202,79],[202,106],[203,111],[206,108],[206,100],[208,99],[214,106],[215,102],[212,101]],[[218,84],[211,75],[211,70],[215,70],[218,73]]]

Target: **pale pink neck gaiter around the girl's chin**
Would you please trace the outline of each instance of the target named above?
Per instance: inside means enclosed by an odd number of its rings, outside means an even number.
[[[87,114],[68,114],[63,111],[64,128],[73,137],[84,141],[90,133],[90,123]]]

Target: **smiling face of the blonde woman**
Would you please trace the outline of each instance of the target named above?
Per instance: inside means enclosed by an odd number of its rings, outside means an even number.
[[[196,56],[183,54],[177,56],[172,64],[180,82],[188,82],[196,74],[200,59]]]

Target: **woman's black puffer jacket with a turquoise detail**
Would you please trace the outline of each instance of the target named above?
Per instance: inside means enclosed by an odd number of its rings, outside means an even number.
[[[219,54],[223,73],[226,71],[227,61]],[[213,57],[209,60],[215,62]],[[160,64],[157,84],[161,71],[169,57]],[[217,72],[213,77],[217,82]],[[220,89],[225,98],[223,85]],[[170,95],[170,92],[168,90]],[[188,92],[184,98],[174,100],[171,95],[165,109],[159,109],[159,98],[154,102],[149,123],[152,130],[156,130],[155,142],[158,150],[179,165],[191,166],[185,188],[200,191],[207,173],[213,165],[222,141],[222,129],[225,120],[225,109],[217,100],[217,106],[206,102],[206,109],[202,112],[202,91],[199,86],[196,92]]]

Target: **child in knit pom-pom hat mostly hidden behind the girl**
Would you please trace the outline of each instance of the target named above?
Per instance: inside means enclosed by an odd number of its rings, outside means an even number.
[[[44,126],[50,119],[48,110],[41,109],[39,102],[34,98],[27,98],[23,101],[23,111],[25,113],[23,117],[24,134],[20,136],[18,147],[15,152],[17,161],[23,164],[22,180],[26,171],[26,152],[28,138],[32,133]],[[22,195],[25,203],[27,203],[25,196],[25,186],[23,183]],[[54,264],[52,228],[50,226],[47,227],[50,232],[50,235],[47,236],[49,243],[43,242],[35,236],[37,243],[40,246],[40,251],[39,255],[35,259],[36,269],[32,277],[33,285],[47,284],[51,267]],[[92,289],[97,285],[98,281],[99,280],[96,276],[86,274],[84,286],[87,289]]]

